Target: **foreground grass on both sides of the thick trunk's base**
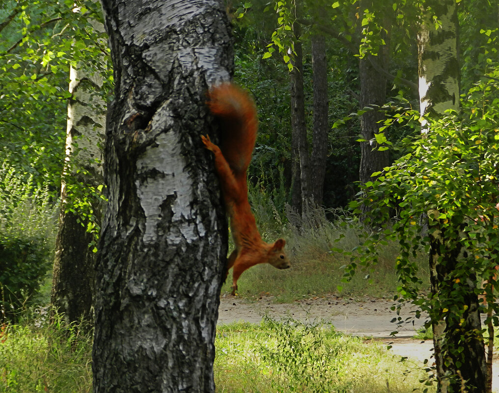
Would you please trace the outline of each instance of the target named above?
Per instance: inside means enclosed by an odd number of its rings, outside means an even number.
[[[87,393],[91,336],[37,319],[0,333],[0,393]],[[330,325],[269,318],[217,328],[219,393],[410,393],[424,372],[386,347],[338,333]]]

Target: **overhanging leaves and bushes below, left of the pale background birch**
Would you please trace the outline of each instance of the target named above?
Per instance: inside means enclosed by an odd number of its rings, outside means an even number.
[[[0,308],[5,312],[32,299],[53,262],[70,65],[91,64],[105,80],[109,71],[95,54],[107,53],[105,37],[92,25],[101,19],[98,2],[0,3]]]

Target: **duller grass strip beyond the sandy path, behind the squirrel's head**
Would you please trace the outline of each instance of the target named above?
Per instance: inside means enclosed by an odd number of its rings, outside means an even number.
[[[278,270],[268,264],[251,267],[238,281],[239,296],[251,300],[268,293],[280,303],[332,293],[354,297],[391,297],[397,288],[395,260],[398,244],[394,241],[378,250],[379,262],[371,270],[358,268],[351,281],[342,282],[344,266],[350,263],[350,259],[332,250],[351,250],[358,244],[361,231],[360,225],[323,222],[319,228],[309,228],[300,233],[288,232],[284,237],[287,239],[291,268]],[[417,262],[423,280],[428,283],[426,258],[420,257]],[[231,285],[232,272],[229,272],[222,293],[230,293]],[[341,292],[338,287],[342,287]]]

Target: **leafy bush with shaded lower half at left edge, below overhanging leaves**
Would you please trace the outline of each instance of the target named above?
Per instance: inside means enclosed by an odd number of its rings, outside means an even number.
[[[0,320],[34,300],[52,263],[57,210],[47,187],[0,167]]]

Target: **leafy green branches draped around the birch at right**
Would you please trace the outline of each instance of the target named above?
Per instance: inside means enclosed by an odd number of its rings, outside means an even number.
[[[390,224],[375,230],[359,244],[360,254],[352,254],[347,276],[358,265],[372,266],[378,259],[379,245],[397,239],[399,300],[410,300],[420,306],[420,311],[427,312],[427,327],[440,320],[459,326],[461,330],[453,334],[461,335],[462,340],[484,340],[485,329],[470,328],[470,290],[485,299],[481,307],[488,313],[490,337],[494,335],[494,326],[499,326],[497,76],[494,70],[475,84],[463,97],[460,113],[427,119],[430,134],[406,141],[408,152],[379,173],[376,181],[367,184],[359,201],[351,203],[357,208],[362,202],[376,206],[366,219],[367,224]],[[417,112],[408,111],[398,120],[409,119],[411,124],[418,118]],[[429,293],[422,285],[414,260],[418,254],[428,253],[432,235],[442,238],[436,255],[448,269],[448,273],[437,271],[440,282],[432,282],[438,285],[438,294]],[[416,316],[419,315],[418,312]],[[443,342],[443,348],[458,359],[466,356],[461,354],[463,348],[454,344]]]

